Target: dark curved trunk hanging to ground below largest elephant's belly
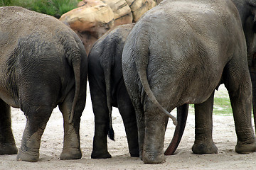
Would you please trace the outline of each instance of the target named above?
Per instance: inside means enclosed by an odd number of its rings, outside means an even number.
[[[176,151],[178,144],[181,142],[181,137],[185,130],[187,118],[188,118],[188,104],[179,106],[177,108],[178,125],[176,125],[175,131],[174,131],[174,137],[172,138],[169,147],[167,147],[166,151],[164,152],[165,155],[174,154],[174,152]]]

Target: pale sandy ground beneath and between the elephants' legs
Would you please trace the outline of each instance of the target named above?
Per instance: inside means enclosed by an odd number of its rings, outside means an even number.
[[[216,91],[215,96],[228,96],[224,86]],[[94,134],[94,115],[90,102],[89,90],[87,103],[80,124],[80,143],[82,159],[60,161],[63,147],[63,118],[55,108],[43,133],[39,161],[36,163],[17,162],[16,154],[0,156],[0,170],[6,169],[255,169],[256,153],[235,153],[236,135],[232,116],[213,115],[213,140],[218,147],[218,154],[197,155],[191,152],[194,140],[194,114],[190,107],[186,129],[176,154],[166,157],[164,164],[144,164],[139,158],[129,157],[127,139],[122,118],[117,108],[113,111],[115,142],[108,142],[112,159],[90,159]],[[173,111],[172,113],[176,113]],[[26,118],[17,108],[11,108],[12,127],[17,147],[21,145]],[[174,125],[169,121],[164,147],[168,147],[174,133]]]

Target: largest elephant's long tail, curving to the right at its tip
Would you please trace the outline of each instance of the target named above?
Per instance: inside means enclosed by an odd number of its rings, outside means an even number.
[[[156,100],[156,97],[154,96],[153,91],[151,91],[151,88],[149,86],[149,81],[147,79],[147,74],[146,74],[147,66],[149,63],[149,47],[148,47],[148,45],[150,44],[149,37],[143,34],[138,34],[138,35],[140,36],[137,38],[137,42],[134,45],[135,46],[134,61],[135,61],[137,72],[139,74],[139,79],[142,82],[144,91],[146,92],[146,95],[149,96],[149,99],[151,100],[151,102],[154,103],[160,109],[160,111],[162,111],[169,118],[171,118],[173,120],[174,125],[177,125],[177,120],[174,117],[174,115],[171,115],[171,113],[166,111],[166,109],[160,105],[160,103]]]

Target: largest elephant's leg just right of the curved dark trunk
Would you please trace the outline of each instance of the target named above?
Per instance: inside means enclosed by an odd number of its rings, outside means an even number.
[[[217,154],[218,149],[213,142],[213,98],[214,91],[207,101],[195,104],[195,142],[194,154]]]

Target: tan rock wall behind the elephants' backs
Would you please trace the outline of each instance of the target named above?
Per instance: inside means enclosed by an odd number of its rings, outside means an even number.
[[[161,0],[83,0],[78,8],[64,13],[60,21],[75,30],[87,54],[94,42],[108,30],[137,22]]]

